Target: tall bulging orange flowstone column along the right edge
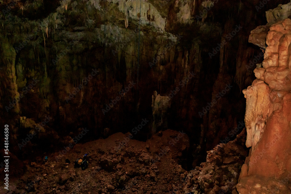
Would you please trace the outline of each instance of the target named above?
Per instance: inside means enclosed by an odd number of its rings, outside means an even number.
[[[281,7],[290,13],[290,6]],[[254,70],[257,79],[243,90],[251,150],[237,184],[241,194],[291,193],[290,43],[291,20],[278,17],[267,33],[264,61]]]

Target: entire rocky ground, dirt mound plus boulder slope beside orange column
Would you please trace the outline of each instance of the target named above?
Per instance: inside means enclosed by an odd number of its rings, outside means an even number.
[[[24,174],[10,180],[8,193],[231,193],[248,154],[244,130],[188,172],[182,168],[189,149],[184,132],[159,131],[146,142],[128,137],[132,134],[116,133],[76,144],[67,153],[48,154],[47,162],[26,160]],[[88,168],[74,168],[85,153]]]

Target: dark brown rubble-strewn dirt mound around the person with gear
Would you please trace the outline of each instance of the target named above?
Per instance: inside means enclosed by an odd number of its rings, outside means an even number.
[[[10,178],[8,193],[184,193],[187,171],[180,164],[187,162],[188,136],[168,129],[147,142],[130,137],[116,133],[48,154],[46,162],[26,160],[27,170]],[[88,168],[74,168],[86,153]],[[7,190],[2,187],[0,193]]]

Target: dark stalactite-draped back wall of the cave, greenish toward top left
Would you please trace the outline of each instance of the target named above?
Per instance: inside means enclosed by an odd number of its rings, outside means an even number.
[[[91,131],[84,140],[125,133],[147,118],[150,124],[135,138],[145,140],[153,128],[183,129],[194,146],[204,142],[200,152],[221,143],[243,120],[241,91],[251,84],[255,68],[246,65],[260,53],[246,40],[265,21],[264,12],[255,8],[259,1],[214,1],[208,7],[202,1],[142,1],[141,10],[139,1],[52,1],[49,9],[47,1],[16,2],[8,14],[1,13],[0,30],[0,122],[13,126],[16,150],[33,129],[20,126],[24,116],[36,123],[52,118],[37,136],[60,141],[85,126]],[[242,29],[228,40],[236,25]],[[183,85],[190,72],[195,76]],[[136,84],[122,92],[130,83]],[[201,116],[226,84],[230,91]],[[154,91],[169,96],[177,87],[167,125],[153,127]],[[15,97],[20,101],[11,108]],[[116,97],[120,100],[102,111]]]

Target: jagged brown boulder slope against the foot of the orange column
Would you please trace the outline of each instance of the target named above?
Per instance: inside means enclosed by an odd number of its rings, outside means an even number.
[[[245,129],[233,141],[219,144],[208,151],[206,162],[191,170],[187,175],[184,192],[231,193],[235,190],[239,172],[248,155],[245,147]]]

